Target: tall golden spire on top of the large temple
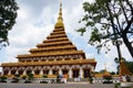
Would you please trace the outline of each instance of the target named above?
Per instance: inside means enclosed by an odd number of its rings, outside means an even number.
[[[62,1],[60,0],[60,12],[59,12],[59,18],[58,18],[58,22],[55,23],[55,29],[59,28],[63,28],[64,29],[64,24],[63,24],[63,19],[62,19]]]

